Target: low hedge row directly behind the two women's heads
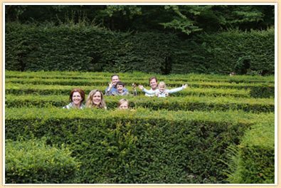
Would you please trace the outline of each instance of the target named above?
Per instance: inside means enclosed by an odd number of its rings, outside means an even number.
[[[81,86],[81,85],[21,85],[9,84],[5,85],[5,93],[13,95],[37,94],[37,95],[68,95],[73,88],[81,88],[85,93],[90,90],[99,89],[105,91],[105,87]],[[130,89],[130,88],[128,88]],[[129,90],[132,93],[132,90]],[[138,95],[144,95],[138,90]],[[241,98],[250,98],[250,90],[228,89],[228,88],[186,88],[170,96],[233,96]]]

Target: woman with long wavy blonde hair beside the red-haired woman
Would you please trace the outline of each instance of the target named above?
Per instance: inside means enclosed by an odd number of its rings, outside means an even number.
[[[101,108],[107,109],[105,104],[105,99],[103,98],[102,92],[100,90],[91,90],[87,101],[86,101],[87,108]]]

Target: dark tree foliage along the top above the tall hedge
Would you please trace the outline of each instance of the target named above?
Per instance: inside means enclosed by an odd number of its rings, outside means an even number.
[[[116,31],[216,32],[274,26],[271,5],[7,5],[6,22],[95,24]]]

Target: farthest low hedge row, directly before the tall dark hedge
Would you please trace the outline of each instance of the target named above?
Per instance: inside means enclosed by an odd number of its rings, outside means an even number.
[[[117,73],[122,80],[142,80],[147,81],[148,78],[156,76],[159,80],[165,81],[216,81],[228,83],[274,83],[274,76],[260,76],[260,75],[235,75],[230,77],[228,75],[207,75],[207,74],[147,74],[141,72],[133,73]],[[42,78],[42,79],[88,79],[88,80],[110,80],[112,73],[100,72],[72,72],[72,71],[37,71],[37,72],[19,72],[19,71],[5,71],[5,78]]]

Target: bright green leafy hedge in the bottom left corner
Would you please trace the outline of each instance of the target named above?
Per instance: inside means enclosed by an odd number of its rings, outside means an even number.
[[[6,140],[6,184],[52,184],[75,182],[79,162],[68,148],[46,145],[46,139]]]

